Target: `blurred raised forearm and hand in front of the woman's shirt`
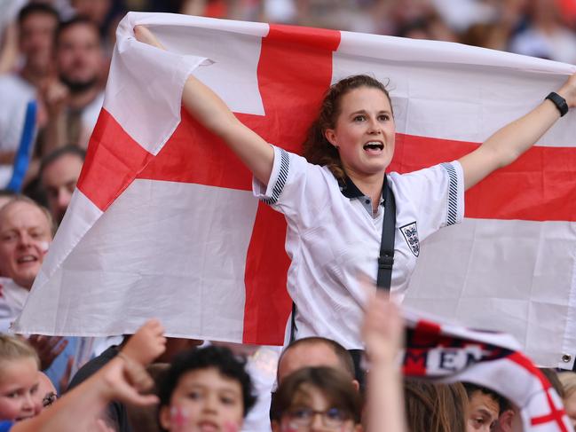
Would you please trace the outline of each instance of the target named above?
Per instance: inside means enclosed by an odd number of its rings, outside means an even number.
[[[367,373],[367,432],[406,432],[402,373],[398,355],[404,324],[398,306],[377,290],[367,302],[362,338],[369,361]]]

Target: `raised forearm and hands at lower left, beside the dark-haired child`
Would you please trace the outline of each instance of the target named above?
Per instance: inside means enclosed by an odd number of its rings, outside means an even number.
[[[150,320],[138,329],[121,353],[98,373],[61,397],[48,410],[30,420],[16,423],[11,432],[76,432],[89,430],[112,400],[131,405],[152,405],[154,395],[142,395],[153,381],[146,373],[147,362],[165,349],[162,325]]]

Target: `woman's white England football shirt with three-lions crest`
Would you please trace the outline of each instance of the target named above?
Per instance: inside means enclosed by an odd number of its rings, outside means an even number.
[[[365,293],[358,278],[376,279],[383,206],[374,215],[371,200],[350,180],[343,187],[327,167],[273,149],[270,181],[262,185],[255,179],[253,189],[288,221],[288,293],[296,303],[296,339],[319,335],[347,350],[362,349]],[[387,177],[397,209],[391,291],[401,299],[420,242],[462,221],[464,180],[457,161]]]

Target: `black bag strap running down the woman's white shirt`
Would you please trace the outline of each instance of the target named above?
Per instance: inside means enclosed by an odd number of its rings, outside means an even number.
[[[382,224],[382,240],[380,256],[378,257],[378,278],[376,287],[390,291],[392,281],[392,265],[394,264],[394,235],[396,233],[396,200],[392,193],[388,176],[384,176],[384,220]]]

